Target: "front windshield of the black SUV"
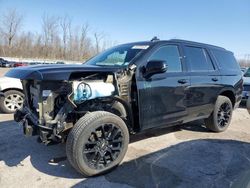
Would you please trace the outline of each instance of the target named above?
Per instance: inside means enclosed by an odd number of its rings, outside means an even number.
[[[146,50],[148,45],[120,45],[111,48],[86,62],[96,66],[127,66],[139,53]]]

